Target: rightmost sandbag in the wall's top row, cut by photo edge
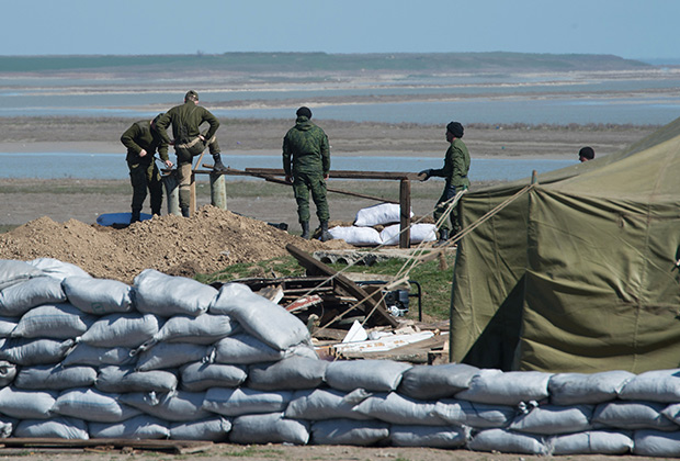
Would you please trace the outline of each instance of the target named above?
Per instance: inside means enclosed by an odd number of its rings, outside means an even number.
[[[619,398],[626,401],[680,402],[680,369],[654,370],[628,381]]]

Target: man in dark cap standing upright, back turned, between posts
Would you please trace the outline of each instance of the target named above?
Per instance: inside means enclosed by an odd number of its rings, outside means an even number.
[[[283,138],[283,170],[285,180],[293,182],[297,217],[303,228],[303,238],[309,238],[309,191],[316,205],[316,215],[321,228],[321,240],[332,238],[328,232],[328,201],[326,180],[330,171],[330,146],[328,136],[310,122],[311,111],[299,108],[295,126]]]

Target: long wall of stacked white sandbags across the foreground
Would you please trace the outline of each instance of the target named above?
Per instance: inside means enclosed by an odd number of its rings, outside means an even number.
[[[0,260],[0,437],[680,456],[680,370],[319,360],[247,286]]]

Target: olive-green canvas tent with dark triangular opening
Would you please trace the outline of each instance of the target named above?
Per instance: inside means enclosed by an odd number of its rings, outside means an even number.
[[[461,200],[452,359],[548,372],[679,367],[680,119],[536,179]]]

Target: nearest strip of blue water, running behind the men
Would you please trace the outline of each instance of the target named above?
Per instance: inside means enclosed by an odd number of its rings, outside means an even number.
[[[171,156],[172,158],[172,156]],[[281,156],[227,155],[224,161],[231,168],[281,168]],[[408,171],[441,168],[442,159],[416,157],[333,157],[332,169],[353,171]],[[124,154],[73,153],[0,153],[0,178],[41,179],[127,179]],[[472,181],[514,180],[576,165],[574,160],[555,159],[473,159]],[[245,179],[227,176],[228,181]],[[207,178],[206,178],[207,179]]]

